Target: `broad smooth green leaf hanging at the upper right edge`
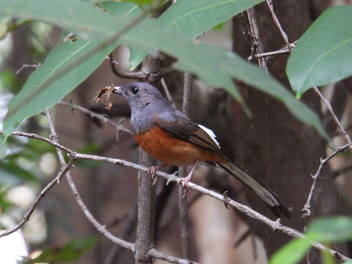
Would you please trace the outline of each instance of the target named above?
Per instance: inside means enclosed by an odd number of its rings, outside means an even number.
[[[351,17],[352,6],[330,7],[300,38],[286,68],[297,96],[352,75]]]

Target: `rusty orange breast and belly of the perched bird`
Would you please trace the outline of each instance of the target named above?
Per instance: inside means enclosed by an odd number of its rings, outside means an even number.
[[[134,138],[149,155],[170,165],[188,166],[196,161],[228,162],[218,153],[177,139],[159,126],[144,134],[134,134]]]

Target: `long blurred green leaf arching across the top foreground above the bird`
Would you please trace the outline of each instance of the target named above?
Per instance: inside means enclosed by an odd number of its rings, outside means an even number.
[[[127,17],[120,18],[118,15],[105,15],[93,6],[90,6],[92,10],[88,10],[89,3],[82,1],[70,2],[65,0],[52,0],[49,1],[50,4],[45,8],[43,8],[43,6],[48,1],[30,1],[29,10],[25,9],[29,1],[17,0],[14,2],[16,4],[13,4],[12,1],[0,0],[0,13],[13,15],[15,17],[45,19],[47,23],[74,28],[80,31],[81,35],[91,38],[100,38],[102,35],[105,36],[105,39],[113,38],[115,34],[122,27],[128,25],[130,21]],[[52,2],[56,3],[54,5],[55,11],[51,10],[51,8],[53,8]],[[67,4],[67,2],[70,2],[72,6]],[[24,7],[22,7],[21,4],[23,4]],[[57,6],[61,8],[57,8]],[[67,13],[67,11],[62,11],[61,13],[57,11],[65,10],[65,8],[68,7],[69,13]],[[82,9],[90,15],[82,12]],[[243,100],[240,94],[237,89],[234,88],[233,78],[243,80],[265,91],[271,91],[271,94],[275,94],[275,96],[285,103],[295,117],[313,125],[321,135],[327,137],[320,124],[318,115],[309,108],[303,107],[303,103],[295,101],[290,93],[283,92],[285,88],[263,70],[259,69],[259,67],[249,65],[231,51],[207,44],[197,44],[194,42],[193,38],[184,36],[174,29],[165,27],[162,22],[153,19],[145,19],[138,26],[124,34],[120,41],[121,43],[136,47],[145,52],[161,50],[177,58],[179,61],[176,63],[175,67],[183,71],[194,73],[203,81],[213,86],[226,89],[242,103]],[[256,70],[252,72],[252,69]],[[90,73],[92,69],[87,68],[86,70]],[[260,78],[257,76],[258,73],[260,73]],[[50,85],[54,84],[51,83]],[[281,92],[276,94],[275,89],[279,89]],[[12,115],[15,113],[15,109],[13,109]],[[12,129],[14,129],[13,126]],[[10,131],[11,129],[8,129],[7,133],[10,133]]]

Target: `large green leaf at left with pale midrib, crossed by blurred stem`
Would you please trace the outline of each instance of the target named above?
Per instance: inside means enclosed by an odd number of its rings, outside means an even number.
[[[78,38],[74,42],[62,42],[56,46],[42,66],[30,75],[22,90],[10,101],[3,121],[5,137],[8,137],[24,119],[43,112],[64,98],[83,82],[117,45],[113,43],[94,54],[89,54],[100,44],[99,40],[87,41]],[[87,57],[78,62],[82,55]],[[69,65],[73,65],[73,68],[63,72]]]

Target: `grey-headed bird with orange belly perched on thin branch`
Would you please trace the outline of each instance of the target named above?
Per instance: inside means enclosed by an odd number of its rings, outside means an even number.
[[[221,153],[212,130],[173,108],[157,88],[146,82],[132,82],[113,86],[112,93],[122,95],[130,105],[131,129],[138,145],[164,162],[163,165],[149,168],[152,176],[168,165],[192,165],[188,176],[178,181],[187,188],[198,162],[219,166],[249,187],[276,216],[291,218],[290,210],[274,192]]]

